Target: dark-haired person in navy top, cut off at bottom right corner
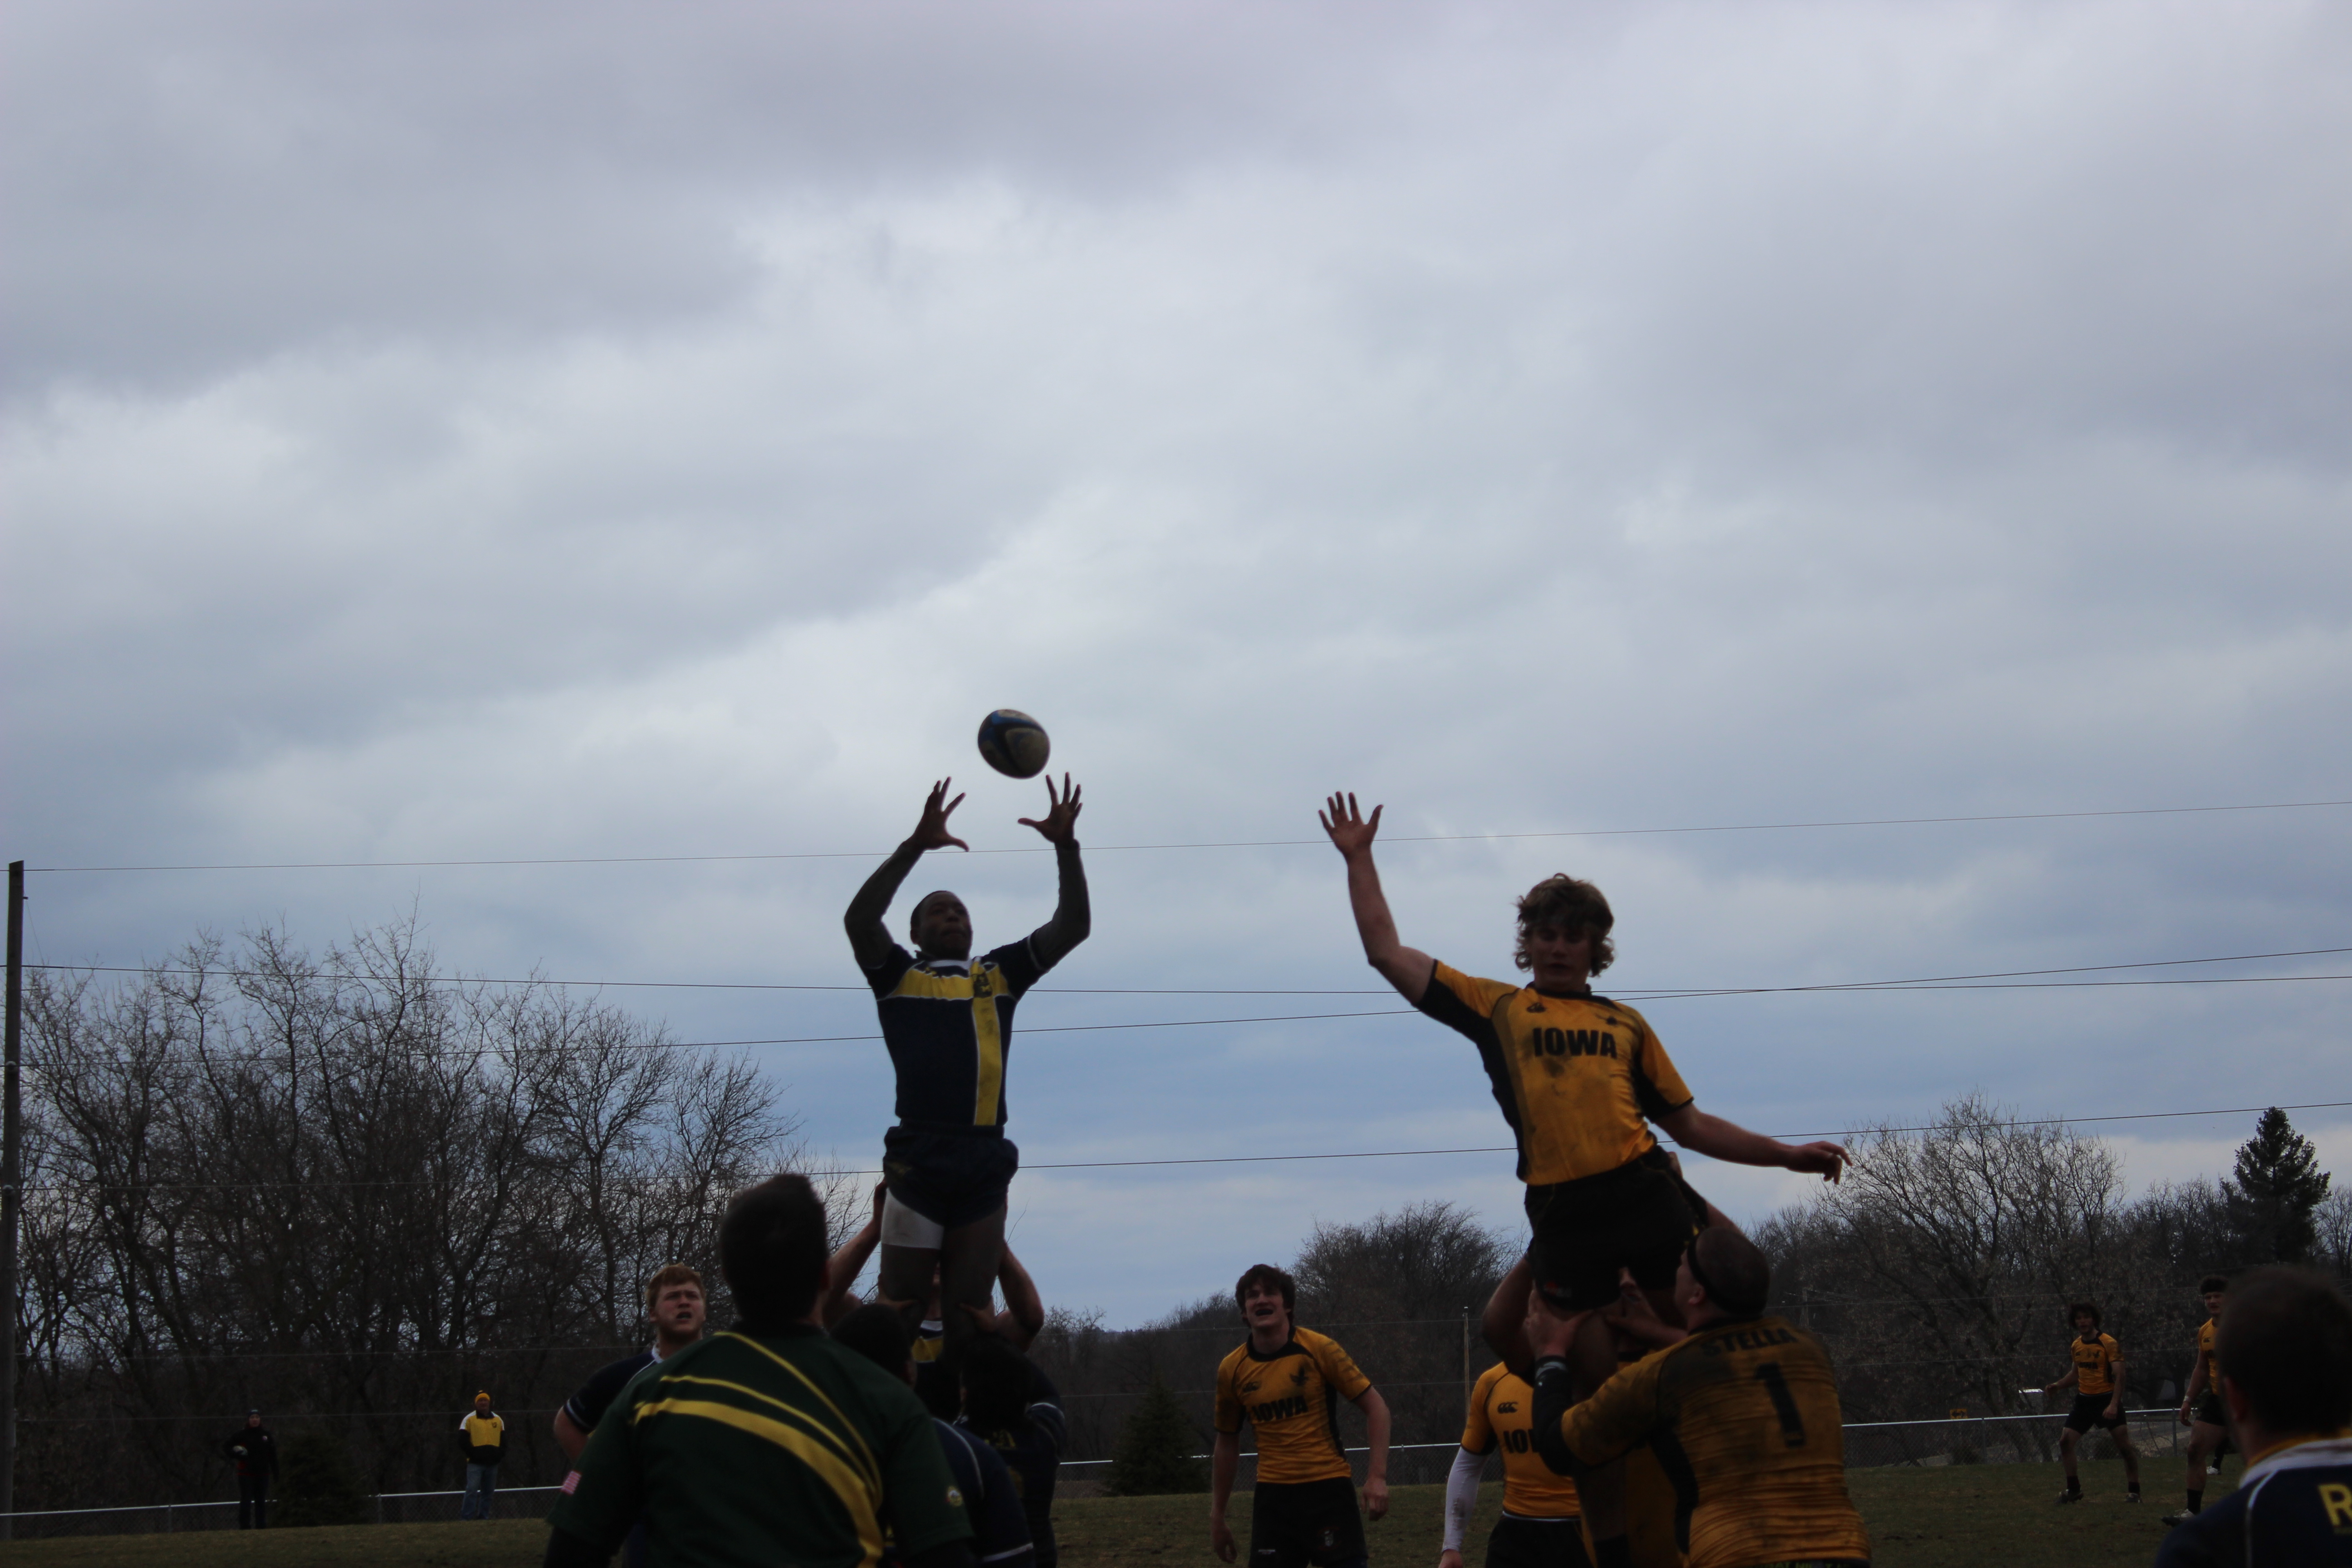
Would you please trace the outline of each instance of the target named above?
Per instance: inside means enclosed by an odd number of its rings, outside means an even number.
[[[2352,1305],[2310,1269],[2253,1269],[2211,1359],[2246,1474],[2164,1537],[2157,1568],[2352,1566]]]

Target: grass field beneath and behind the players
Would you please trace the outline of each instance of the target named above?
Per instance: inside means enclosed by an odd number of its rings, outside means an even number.
[[[2056,1507],[2056,1465],[1959,1465],[1950,1469],[1856,1469],[1853,1500],[1870,1521],[1879,1568],[2145,1568],[2164,1537],[2161,1514],[2178,1507],[2178,1465],[2147,1465],[2147,1502],[2124,1502],[2122,1465],[2086,1465],[2089,1502]],[[2232,1481],[2216,1476],[2218,1500]],[[1390,1516],[1367,1528],[1381,1568],[1437,1561],[1442,1486],[1399,1486]],[[1503,1488],[1479,1495],[1470,1563],[1479,1561]],[[1207,1497],[1075,1497],[1056,1505],[1068,1568],[1216,1568]],[[1247,1540],[1247,1502],[1235,1500],[1235,1533]],[[200,1530],[183,1535],[99,1535],[0,1547],[5,1563],[87,1568],[529,1568],[546,1547],[536,1519],[494,1523],[402,1523],[343,1530]]]

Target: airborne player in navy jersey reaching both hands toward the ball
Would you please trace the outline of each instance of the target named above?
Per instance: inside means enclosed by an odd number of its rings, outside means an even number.
[[[1004,1192],[1021,1150],[1004,1135],[1004,1067],[1011,1056],[1014,1004],[1087,940],[1087,870],[1077,856],[1077,788],[1044,785],[1044,818],[1021,818],[1054,846],[1061,903],[1054,919],[1018,943],[971,957],[971,912],[955,893],[915,900],[908,933],[915,952],[889,938],[882,914],[898,884],[929,849],[971,849],[948,832],[948,780],[931,785],[922,820],[906,844],[866,879],[842,924],[858,969],[875,987],[882,1041],[898,1074],[898,1126],[882,1138],[889,1197],[882,1213],[880,1293],[920,1302],[941,1272],[948,1354],[974,1333],[955,1307],[990,1307],[997,1253],[1004,1246]],[[908,1324],[913,1328],[913,1324]]]

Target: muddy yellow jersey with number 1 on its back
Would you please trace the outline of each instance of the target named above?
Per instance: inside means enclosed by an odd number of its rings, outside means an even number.
[[[1689,1568],[1870,1556],[1830,1356],[1783,1319],[1717,1324],[1635,1361],[1559,1434],[1585,1465],[1651,1446]]]

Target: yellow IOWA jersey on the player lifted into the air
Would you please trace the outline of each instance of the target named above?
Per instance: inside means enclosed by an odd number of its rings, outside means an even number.
[[[1421,1011],[1477,1044],[1529,1187],[1649,1154],[1658,1147],[1649,1124],[1691,1103],[1649,1020],[1623,1001],[1545,997],[1439,964]]]

